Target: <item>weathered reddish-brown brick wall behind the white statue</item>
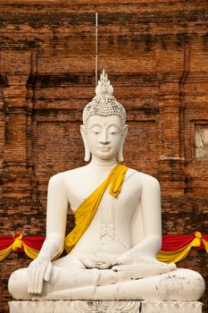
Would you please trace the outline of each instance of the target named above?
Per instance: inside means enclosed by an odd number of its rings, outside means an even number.
[[[163,233],[207,233],[208,159],[196,158],[196,130],[208,128],[207,1],[1,0],[1,234],[45,234],[49,177],[84,164],[95,12],[98,68],[128,111],[126,164],[161,182]],[[179,266],[207,280],[206,258],[192,251]],[[1,263],[1,312],[9,275],[28,264],[15,253]]]

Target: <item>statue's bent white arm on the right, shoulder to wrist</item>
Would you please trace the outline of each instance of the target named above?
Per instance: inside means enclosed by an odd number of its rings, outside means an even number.
[[[156,259],[162,244],[160,184],[154,177],[145,175],[141,194],[142,224],[144,240],[118,258],[120,264],[128,264],[141,258]]]

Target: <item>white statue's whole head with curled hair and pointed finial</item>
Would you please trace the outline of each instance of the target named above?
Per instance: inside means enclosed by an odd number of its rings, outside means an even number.
[[[96,86],[96,97],[83,110],[80,131],[85,161],[89,161],[90,153],[102,160],[117,157],[119,162],[123,161],[123,144],[128,132],[126,110],[112,93],[110,80],[103,71]]]

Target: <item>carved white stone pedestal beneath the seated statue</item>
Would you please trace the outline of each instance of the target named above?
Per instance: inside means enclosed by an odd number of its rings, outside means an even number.
[[[11,301],[10,313],[202,313],[198,301]]]

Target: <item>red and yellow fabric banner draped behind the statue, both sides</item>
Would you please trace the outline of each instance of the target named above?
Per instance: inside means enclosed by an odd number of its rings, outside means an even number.
[[[25,252],[29,258],[37,258],[37,254],[45,241],[45,236],[0,236],[0,261],[12,251]],[[177,263],[186,258],[192,248],[205,250],[208,253],[208,234],[195,232],[193,234],[163,235],[162,250],[157,259],[166,263]]]

